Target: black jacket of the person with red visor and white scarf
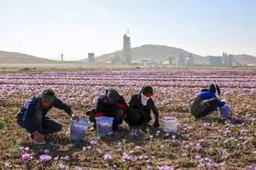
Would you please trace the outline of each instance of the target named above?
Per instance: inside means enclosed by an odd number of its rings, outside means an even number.
[[[150,116],[151,110],[155,115],[155,120],[158,121],[158,112],[155,108],[155,103],[152,98],[149,98],[146,105],[142,105],[141,92],[139,94],[133,94],[128,101],[127,114],[140,113],[144,111],[145,115]]]

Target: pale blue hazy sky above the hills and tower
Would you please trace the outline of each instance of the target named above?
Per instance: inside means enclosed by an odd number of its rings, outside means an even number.
[[[255,0],[0,0],[0,51],[49,59],[168,45],[256,56]]]

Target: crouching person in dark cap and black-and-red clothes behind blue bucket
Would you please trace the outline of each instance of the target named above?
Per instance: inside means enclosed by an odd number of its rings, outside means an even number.
[[[91,130],[95,130],[96,128],[95,117],[100,116],[113,117],[112,129],[119,130],[118,125],[122,125],[123,123],[123,115],[126,107],[127,105],[123,96],[119,95],[115,89],[106,90],[105,95],[101,95],[98,98],[96,107],[86,113],[86,115],[90,116],[90,121],[94,123]]]

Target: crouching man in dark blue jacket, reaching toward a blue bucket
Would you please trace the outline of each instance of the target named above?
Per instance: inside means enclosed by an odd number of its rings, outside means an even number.
[[[80,121],[78,115],[73,115],[69,105],[59,100],[51,89],[46,89],[42,94],[27,100],[16,115],[17,124],[27,129],[33,144],[45,144],[44,135],[61,131],[62,125],[47,115],[53,106]]]

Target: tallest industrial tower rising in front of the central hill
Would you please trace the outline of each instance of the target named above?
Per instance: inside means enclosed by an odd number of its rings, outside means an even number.
[[[130,37],[127,35],[123,35],[123,64],[124,65],[132,64],[131,41],[130,41]]]

